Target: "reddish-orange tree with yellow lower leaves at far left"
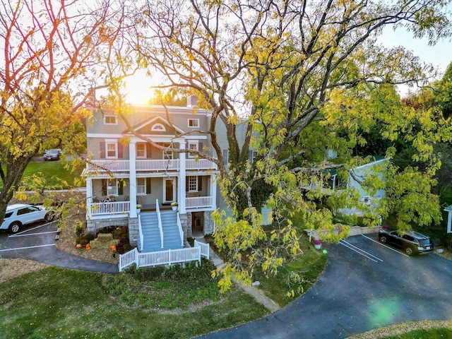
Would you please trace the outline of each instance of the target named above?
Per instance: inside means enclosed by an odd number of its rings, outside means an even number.
[[[2,1],[0,216],[41,148],[70,150],[83,141],[77,126],[87,89],[121,30],[121,14],[108,1],[96,8],[78,0]]]

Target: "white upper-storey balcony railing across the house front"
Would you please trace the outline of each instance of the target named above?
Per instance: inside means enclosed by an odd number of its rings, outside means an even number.
[[[215,162],[206,159],[185,160],[187,170],[217,169]],[[91,160],[86,166],[88,171],[129,172],[129,160]],[[179,159],[136,160],[136,171],[179,171]]]

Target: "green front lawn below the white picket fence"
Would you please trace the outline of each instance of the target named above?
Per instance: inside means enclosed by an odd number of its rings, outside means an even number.
[[[49,267],[1,283],[1,337],[192,338],[268,314],[239,289],[221,295],[217,301],[206,298],[191,308],[183,307],[184,302],[180,309],[130,303],[122,301],[105,283],[112,277]],[[172,285],[178,283],[172,281]],[[143,283],[151,289],[153,284],[151,280]],[[129,287],[123,285],[120,290],[129,297],[139,295]],[[174,293],[180,292],[158,291],[167,299],[174,299]]]

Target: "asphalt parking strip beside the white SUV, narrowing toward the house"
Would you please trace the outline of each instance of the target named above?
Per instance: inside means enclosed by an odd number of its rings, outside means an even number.
[[[81,258],[57,249],[56,225],[57,222],[38,223],[17,234],[0,232],[0,258],[25,258],[53,266],[92,272],[118,272],[118,266],[113,263]]]

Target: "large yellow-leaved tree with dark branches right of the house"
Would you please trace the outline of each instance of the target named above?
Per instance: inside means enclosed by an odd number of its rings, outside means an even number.
[[[290,220],[271,234],[263,231],[258,211],[265,202],[275,220],[299,211],[305,228],[333,230],[330,211],[314,202],[321,192],[299,189],[326,167],[307,156],[312,143],[340,147],[345,155],[350,149],[335,137],[333,115],[323,107],[358,86],[368,95],[368,83],[422,81],[429,69],[403,48],[383,49],[376,37],[387,25],[405,25],[434,42],[449,32],[446,2],[145,1],[135,32],[141,58],[166,85],[191,88],[213,110],[205,133],[237,218],[217,220],[215,241],[230,255],[227,273],[251,281],[256,265],[274,272],[287,252],[299,252]],[[371,119],[364,109],[356,121]],[[229,169],[219,125],[227,131]],[[252,163],[251,147],[258,150]],[[222,283],[230,284],[227,275]]]

